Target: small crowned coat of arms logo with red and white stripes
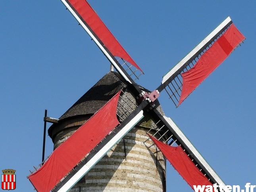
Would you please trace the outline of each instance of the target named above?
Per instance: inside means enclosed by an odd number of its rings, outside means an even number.
[[[16,188],[16,175],[14,169],[2,170],[2,189],[13,190]]]

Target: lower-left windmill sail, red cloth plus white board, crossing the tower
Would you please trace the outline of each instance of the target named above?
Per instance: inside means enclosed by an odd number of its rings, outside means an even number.
[[[37,191],[65,192],[72,188],[143,117],[143,105],[119,124],[119,91],[51,154],[29,180]],[[120,104],[119,104],[120,107]]]

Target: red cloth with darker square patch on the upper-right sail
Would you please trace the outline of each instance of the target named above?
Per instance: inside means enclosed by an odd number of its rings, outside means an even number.
[[[191,92],[208,77],[245,39],[234,24],[218,38],[216,42],[199,58],[196,65],[189,71],[182,73],[183,87],[178,106]]]

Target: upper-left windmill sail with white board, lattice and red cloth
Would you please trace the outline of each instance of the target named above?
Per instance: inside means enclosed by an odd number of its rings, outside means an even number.
[[[131,77],[135,76],[135,79],[138,79],[139,75],[143,73],[142,69],[135,63],[131,56],[129,56],[114,35],[112,35],[89,3],[86,0],[61,1],[89,34],[92,40],[94,40],[122,77],[129,83],[134,84]],[[121,62],[115,57],[118,57]],[[131,65],[127,65],[127,62],[131,63]],[[127,66],[127,70],[124,69],[125,66]],[[136,69],[132,70],[132,66]],[[131,74],[128,74],[129,71],[131,71]],[[137,71],[140,71],[141,73],[136,74]]]

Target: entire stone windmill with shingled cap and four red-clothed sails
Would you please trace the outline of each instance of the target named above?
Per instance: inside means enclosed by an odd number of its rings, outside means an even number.
[[[61,1],[116,71],[100,79],[60,119],[50,121],[54,124],[48,134],[55,150],[28,176],[35,189],[165,191],[165,157],[191,188],[224,186],[173,120],[164,115],[157,98],[165,90],[178,107],[243,42],[245,37],[231,18],[206,36],[151,92],[135,83],[143,73],[141,68],[88,2]]]

